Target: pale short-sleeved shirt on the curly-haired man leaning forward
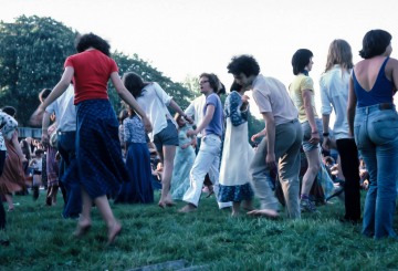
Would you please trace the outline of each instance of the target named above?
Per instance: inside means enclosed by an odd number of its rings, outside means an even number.
[[[281,81],[259,74],[252,88],[260,113],[272,112],[275,126],[297,118],[297,110]]]

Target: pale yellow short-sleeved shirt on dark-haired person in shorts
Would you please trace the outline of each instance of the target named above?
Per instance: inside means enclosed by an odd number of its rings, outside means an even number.
[[[303,91],[308,90],[311,93],[311,105],[314,111],[314,117],[318,118],[315,110],[314,101],[314,82],[311,77],[298,74],[294,77],[292,84],[289,86],[290,95],[293,100],[294,105],[298,108],[298,121],[300,123],[307,122],[307,117],[304,110]]]

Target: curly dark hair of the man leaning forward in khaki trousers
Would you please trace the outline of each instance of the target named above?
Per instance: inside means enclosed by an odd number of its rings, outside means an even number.
[[[260,65],[252,55],[242,54],[233,56],[231,62],[227,66],[228,72],[233,75],[243,73],[247,77],[251,75],[259,75]]]

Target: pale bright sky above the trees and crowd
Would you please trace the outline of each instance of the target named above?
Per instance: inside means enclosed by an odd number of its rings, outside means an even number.
[[[0,7],[4,22],[51,17],[101,35],[112,50],[138,54],[176,82],[213,72],[228,90],[233,55],[253,55],[264,75],[287,86],[292,55],[306,48],[314,53],[310,76],[318,108],[318,79],[334,39],[352,45],[355,63],[365,33],[384,29],[397,46],[391,56],[398,52],[397,0],[0,0]]]

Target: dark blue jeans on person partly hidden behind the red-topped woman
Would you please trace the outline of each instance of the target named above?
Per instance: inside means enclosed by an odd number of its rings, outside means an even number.
[[[77,218],[82,211],[82,191],[75,154],[75,132],[59,133],[57,149],[61,155],[62,184],[66,189],[66,204],[62,211],[64,218]]]

